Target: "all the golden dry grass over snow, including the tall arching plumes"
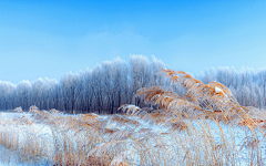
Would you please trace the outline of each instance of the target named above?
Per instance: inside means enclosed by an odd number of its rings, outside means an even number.
[[[68,115],[57,110],[0,115],[6,163],[29,165],[265,165],[265,113],[242,106],[218,82],[161,70],[170,86],[140,89],[149,107],[121,114]],[[16,155],[13,155],[16,154]]]

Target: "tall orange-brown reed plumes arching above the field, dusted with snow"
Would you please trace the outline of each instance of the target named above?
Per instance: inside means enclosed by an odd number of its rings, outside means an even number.
[[[227,123],[235,118],[249,121],[250,107],[239,105],[224,84],[204,84],[183,71],[161,70],[158,73],[165,75],[172,85],[186,89],[184,95],[176,94],[171,87],[157,85],[140,89],[136,97],[143,98],[146,104],[158,105],[164,110],[161,113],[190,118],[211,117]]]

